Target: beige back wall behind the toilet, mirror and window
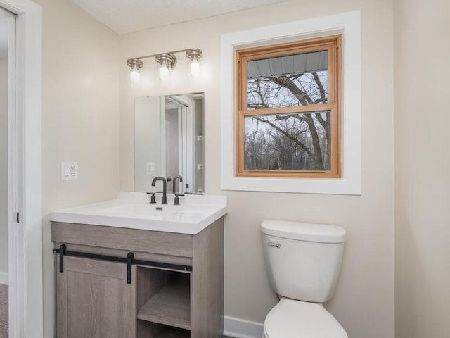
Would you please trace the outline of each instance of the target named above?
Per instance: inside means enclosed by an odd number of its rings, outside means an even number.
[[[361,10],[362,196],[222,192],[220,189],[221,34],[302,18]],[[287,32],[288,33],[288,32]],[[349,337],[394,337],[394,154],[392,1],[295,0],[122,35],[120,189],[134,187],[134,97],[205,92],[205,191],[229,196],[226,216],[226,315],[262,323],[276,303],[262,257],[259,223],[266,218],[342,225],[348,231],[338,289],[326,307]],[[180,56],[172,84],[129,85],[127,58],[197,47],[201,84],[186,78]],[[143,77],[155,74],[144,61]],[[176,74],[180,74],[179,77]]]

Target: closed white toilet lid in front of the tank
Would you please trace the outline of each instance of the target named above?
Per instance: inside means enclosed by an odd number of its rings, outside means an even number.
[[[285,298],[267,314],[264,334],[267,338],[348,338],[322,304]]]

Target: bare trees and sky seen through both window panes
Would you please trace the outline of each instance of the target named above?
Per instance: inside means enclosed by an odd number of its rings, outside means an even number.
[[[248,109],[326,104],[327,84],[327,71],[248,79]],[[330,170],[330,115],[245,116],[245,170]]]

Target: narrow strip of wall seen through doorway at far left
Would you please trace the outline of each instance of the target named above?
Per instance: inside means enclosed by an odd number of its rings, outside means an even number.
[[[0,274],[2,273],[8,273],[8,58],[0,58]]]

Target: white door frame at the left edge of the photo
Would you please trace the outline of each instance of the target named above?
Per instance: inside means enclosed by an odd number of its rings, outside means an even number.
[[[0,7],[16,15],[8,70],[9,337],[42,338],[42,12],[31,0],[0,0]]]

